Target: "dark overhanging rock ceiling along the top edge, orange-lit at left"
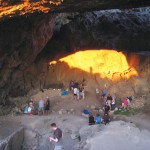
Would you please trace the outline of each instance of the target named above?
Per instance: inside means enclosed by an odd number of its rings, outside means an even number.
[[[131,9],[149,5],[149,0],[0,0],[0,20],[35,13]]]

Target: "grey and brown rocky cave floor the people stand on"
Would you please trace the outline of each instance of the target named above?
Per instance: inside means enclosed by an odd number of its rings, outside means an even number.
[[[33,98],[36,104],[40,98],[45,100],[49,96],[51,113],[44,116],[16,116],[12,111],[7,116],[1,116],[0,141],[5,141],[19,128],[24,128],[23,150],[52,150],[54,144],[49,142],[48,137],[52,135],[50,124],[56,122],[65,135],[64,150],[99,150],[99,147],[105,150],[108,148],[107,141],[113,144],[113,147],[110,144],[110,150],[117,149],[118,146],[122,146],[123,150],[149,149],[150,132],[147,130],[150,130],[150,117],[148,114],[141,113],[129,117],[116,115],[112,116],[114,119],[107,126],[88,126],[88,119],[81,115],[84,108],[89,109],[94,115],[98,111],[103,113],[102,103],[96,99],[94,92],[93,94],[86,92],[86,99],[80,101],[77,101],[72,93],[67,96],[60,96],[60,93],[61,91],[58,89],[45,90],[44,92],[31,91],[26,97],[13,99],[15,105],[22,107],[30,98]],[[143,98],[135,99],[132,103],[132,107],[143,105]]]

